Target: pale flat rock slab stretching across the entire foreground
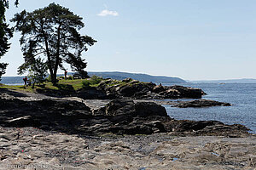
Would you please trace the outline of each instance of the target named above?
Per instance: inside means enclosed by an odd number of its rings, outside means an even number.
[[[256,136],[78,136],[0,127],[0,166],[30,169],[255,169]],[[31,168],[32,169],[32,168]]]

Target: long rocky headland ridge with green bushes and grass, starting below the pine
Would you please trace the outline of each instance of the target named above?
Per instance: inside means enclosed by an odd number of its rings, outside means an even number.
[[[103,80],[97,87],[75,91],[72,86],[58,87],[59,90],[38,88],[39,94],[53,97],[74,96],[81,99],[201,99],[205,93],[200,88],[183,86],[161,86],[153,82],[139,82],[131,78],[116,82],[112,79]]]

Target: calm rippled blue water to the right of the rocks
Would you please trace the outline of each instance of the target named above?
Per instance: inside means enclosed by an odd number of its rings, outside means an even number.
[[[165,84],[173,85],[173,84]],[[180,84],[201,88],[207,93],[203,99],[229,102],[230,107],[175,108],[165,105],[166,111],[175,119],[195,121],[216,120],[227,124],[243,124],[256,133],[256,84],[241,83],[187,83]],[[181,100],[181,99],[179,99]]]

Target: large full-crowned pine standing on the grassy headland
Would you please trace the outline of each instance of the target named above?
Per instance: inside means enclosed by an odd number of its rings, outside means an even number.
[[[84,71],[87,63],[81,55],[96,40],[79,34],[79,30],[84,27],[82,20],[68,8],[55,3],[32,13],[24,10],[15,14],[12,21],[15,22],[15,31],[21,31],[20,46],[25,59],[19,70],[26,69],[26,66],[43,55],[54,85],[58,69],[65,70],[64,62],[71,65],[73,70],[87,74]]]

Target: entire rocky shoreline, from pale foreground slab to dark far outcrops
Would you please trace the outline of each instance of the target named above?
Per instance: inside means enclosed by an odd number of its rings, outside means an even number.
[[[197,88],[154,85],[147,91],[143,89],[153,83],[125,81],[130,85],[108,86],[112,89],[109,94],[105,87],[105,97],[97,88],[96,93],[91,93],[97,99],[87,99],[91,89],[75,96],[55,97],[1,89],[1,166],[38,163],[49,169],[256,167],[256,139],[247,127],[218,121],[175,120],[161,106],[229,104],[200,99],[204,93]],[[87,94],[82,96],[85,91]],[[174,103],[161,100],[189,96],[197,99]]]

